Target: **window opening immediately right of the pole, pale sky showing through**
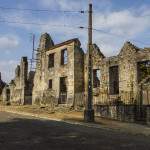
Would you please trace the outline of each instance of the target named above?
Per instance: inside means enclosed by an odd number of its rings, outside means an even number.
[[[97,88],[100,86],[100,70],[93,70],[93,88]]]

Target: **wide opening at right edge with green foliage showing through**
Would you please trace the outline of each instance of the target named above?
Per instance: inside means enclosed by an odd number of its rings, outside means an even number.
[[[137,79],[141,82],[148,75],[150,75],[150,60],[137,63]]]

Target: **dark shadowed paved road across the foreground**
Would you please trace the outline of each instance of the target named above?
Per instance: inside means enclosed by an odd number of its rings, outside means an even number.
[[[0,112],[0,150],[150,150],[150,137]]]

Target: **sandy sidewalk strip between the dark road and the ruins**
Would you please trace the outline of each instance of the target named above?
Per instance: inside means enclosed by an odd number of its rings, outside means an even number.
[[[145,136],[150,136],[150,127],[146,125],[139,125],[134,123],[125,123],[114,120],[103,119],[95,117],[95,123],[85,123],[83,121],[83,112],[77,111],[58,111],[51,112],[46,108],[39,108],[35,106],[0,106],[0,111],[32,116],[40,119],[63,121],[70,124],[83,125],[92,128],[99,128],[104,130],[117,130],[124,133]]]

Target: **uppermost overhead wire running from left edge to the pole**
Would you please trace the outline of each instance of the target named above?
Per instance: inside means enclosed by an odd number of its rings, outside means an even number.
[[[15,7],[2,7],[2,10],[16,10],[16,11],[33,11],[33,12],[59,12],[59,13],[87,13],[84,10],[50,10],[50,9],[31,9],[31,8],[15,8]]]

